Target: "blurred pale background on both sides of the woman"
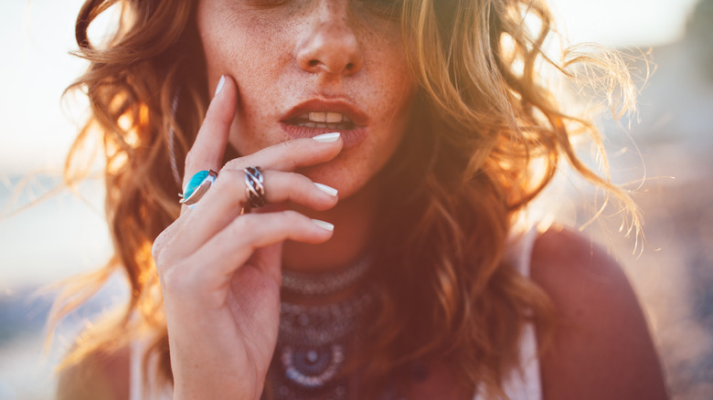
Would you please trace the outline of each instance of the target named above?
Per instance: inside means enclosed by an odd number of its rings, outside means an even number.
[[[62,90],[80,75],[74,18],[80,0],[0,0],[0,400],[51,398],[52,369],[83,321],[125,296],[121,279],[73,312],[43,350],[51,282],[100,267],[111,244],[101,180],[75,192],[61,168],[87,102]],[[713,0],[550,0],[572,43],[635,56],[651,77],[633,118],[602,121],[615,176],[635,189],[647,242],[585,235],[611,248],[648,316],[675,399],[713,398]],[[96,30],[101,32],[101,21]],[[97,34],[99,35],[99,34]],[[647,53],[652,61],[645,65]],[[636,60],[637,59],[637,60]],[[562,219],[581,225],[573,200]],[[33,204],[26,208],[26,205]],[[591,211],[591,210],[589,210]],[[613,218],[616,219],[616,218]],[[614,224],[614,222],[612,222]]]

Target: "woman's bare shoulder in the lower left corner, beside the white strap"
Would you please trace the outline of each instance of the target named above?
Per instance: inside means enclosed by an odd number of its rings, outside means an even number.
[[[129,399],[130,352],[92,353],[59,373],[58,400]]]

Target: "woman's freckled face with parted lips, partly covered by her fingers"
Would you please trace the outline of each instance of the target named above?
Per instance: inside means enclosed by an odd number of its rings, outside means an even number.
[[[341,132],[339,156],[304,173],[342,198],[366,184],[396,150],[415,93],[393,2],[199,0],[210,88],[223,74],[238,82],[238,152]]]

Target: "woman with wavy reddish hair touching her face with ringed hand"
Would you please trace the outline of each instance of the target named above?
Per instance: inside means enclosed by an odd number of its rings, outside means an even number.
[[[68,171],[98,124],[96,281],[121,266],[132,294],[60,398],[665,398],[615,262],[513,227],[560,156],[627,201],[538,78],[544,4],[126,1],[94,47],[112,3],[77,20],[93,114]]]

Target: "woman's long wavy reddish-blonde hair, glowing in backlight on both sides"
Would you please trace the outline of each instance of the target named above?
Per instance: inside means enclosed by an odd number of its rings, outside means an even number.
[[[77,18],[76,54],[90,68],[68,90],[89,96],[91,117],[65,176],[69,184],[83,176],[80,153],[92,136],[101,140],[115,255],[69,286],[56,315],[86,300],[118,269],[131,296],[118,317],[80,336],[65,364],[152,332],[150,353],[158,357],[159,374],[171,379],[151,246],[180,211],[171,159],[185,158],[208,107],[204,61],[195,57],[202,51],[196,3],[88,0]],[[122,10],[119,28],[94,46],[88,27],[115,4]],[[547,57],[554,27],[544,1],[412,0],[395,7],[420,86],[412,123],[418,140],[404,141],[382,173],[389,187],[383,217],[390,221],[383,226],[392,228],[378,241],[378,262],[388,268],[378,268],[383,307],[366,336],[367,387],[378,390],[384,377],[399,376],[413,362],[442,362],[463,390],[478,385],[505,397],[502,384],[518,363],[523,327],[537,323],[544,345],[555,321],[546,293],[505,258],[518,212],[548,185],[561,160],[635,209],[606,169],[598,173],[582,163],[573,136],[588,134],[603,155],[600,135],[583,115],[563,111],[541,72],[576,79],[575,71],[596,69],[610,98],[615,89],[623,94],[620,111],[635,92],[610,53]],[[399,204],[389,203],[395,198]]]

